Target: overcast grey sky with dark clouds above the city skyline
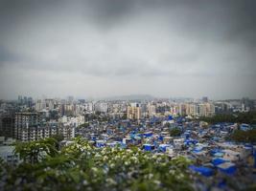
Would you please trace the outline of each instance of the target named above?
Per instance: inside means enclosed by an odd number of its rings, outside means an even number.
[[[254,0],[0,0],[0,99],[256,98]]]

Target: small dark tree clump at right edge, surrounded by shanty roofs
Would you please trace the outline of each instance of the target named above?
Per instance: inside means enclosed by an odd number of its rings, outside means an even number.
[[[243,130],[236,130],[234,131],[229,139],[237,141],[237,142],[256,142],[256,129],[243,131]]]

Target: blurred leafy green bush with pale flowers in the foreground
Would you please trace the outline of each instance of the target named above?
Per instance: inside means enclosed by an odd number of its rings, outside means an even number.
[[[136,147],[96,148],[76,138],[58,153],[27,159],[38,147],[45,150],[46,142],[19,146],[16,152],[25,160],[5,171],[5,180],[0,178],[5,190],[192,190],[190,161],[184,158],[155,156]]]

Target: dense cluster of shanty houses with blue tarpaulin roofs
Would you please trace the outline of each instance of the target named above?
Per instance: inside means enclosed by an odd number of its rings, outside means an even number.
[[[173,133],[174,129],[177,134]],[[183,156],[193,161],[189,166],[192,175],[199,175],[194,176],[197,179],[195,186],[207,186],[205,182],[209,181],[209,185],[220,188],[228,186],[228,181],[236,180],[243,189],[246,183],[256,182],[256,145],[228,141],[228,136],[236,129],[247,131],[250,126],[235,123],[208,125],[183,117],[162,117],[101,124],[94,121],[76,134],[96,147],[136,146],[154,155]]]

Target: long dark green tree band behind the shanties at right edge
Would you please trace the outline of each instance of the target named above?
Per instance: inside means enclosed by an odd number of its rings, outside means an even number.
[[[256,124],[256,112],[238,113],[238,114],[220,114],[214,117],[200,117],[200,120],[218,123],[218,122],[238,122]]]

